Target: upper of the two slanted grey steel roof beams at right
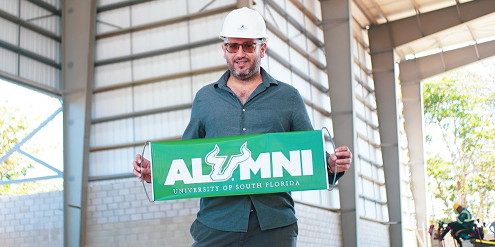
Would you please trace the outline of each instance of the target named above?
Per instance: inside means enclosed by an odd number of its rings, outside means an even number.
[[[495,12],[495,0],[474,0],[370,27],[373,53],[395,48]],[[459,18],[460,13],[460,18]]]

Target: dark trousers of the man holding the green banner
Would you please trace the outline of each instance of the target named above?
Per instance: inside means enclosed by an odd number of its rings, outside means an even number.
[[[249,215],[247,232],[224,232],[209,228],[195,220],[191,225],[192,247],[296,247],[297,222],[261,231],[256,211]]]

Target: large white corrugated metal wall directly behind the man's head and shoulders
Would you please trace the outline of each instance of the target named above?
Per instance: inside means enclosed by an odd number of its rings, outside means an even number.
[[[90,177],[128,173],[146,140],[181,137],[198,89],[227,69],[218,34],[237,4],[153,0],[109,7],[118,2],[99,1]],[[316,129],[332,129],[319,1],[254,3],[269,30],[262,67],[300,91]],[[338,190],[294,197],[339,207]]]

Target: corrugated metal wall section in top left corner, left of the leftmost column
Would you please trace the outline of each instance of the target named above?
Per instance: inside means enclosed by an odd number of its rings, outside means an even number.
[[[0,1],[0,72],[60,89],[60,0]]]

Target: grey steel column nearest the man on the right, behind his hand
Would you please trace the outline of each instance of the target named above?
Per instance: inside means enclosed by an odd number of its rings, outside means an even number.
[[[322,0],[323,35],[327,59],[328,84],[332,104],[332,123],[337,146],[346,145],[358,157],[357,132],[354,126],[355,92],[352,86],[352,15],[349,0]],[[363,246],[359,243],[357,169],[355,162],[339,180],[342,239],[345,247]]]

